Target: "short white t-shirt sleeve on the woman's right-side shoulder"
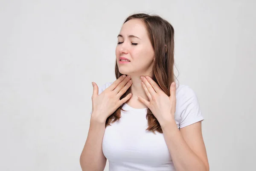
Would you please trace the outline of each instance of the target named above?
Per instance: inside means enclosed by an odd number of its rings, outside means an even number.
[[[184,87],[181,100],[182,111],[180,114],[180,128],[204,120],[201,114],[198,97],[189,86]]]

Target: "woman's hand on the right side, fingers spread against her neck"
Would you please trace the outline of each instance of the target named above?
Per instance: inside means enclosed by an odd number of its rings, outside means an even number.
[[[140,96],[137,96],[138,99],[151,110],[161,126],[169,122],[176,123],[174,117],[176,110],[175,82],[172,82],[170,87],[170,96],[168,96],[151,77],[142,76],[140,78],[142,80],[141,84],[149,98],[149,101]]]

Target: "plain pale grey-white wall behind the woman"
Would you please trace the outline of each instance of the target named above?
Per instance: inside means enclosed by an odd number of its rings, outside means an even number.
[[[91,82],[116,80],[116,36],[137,12],[158,14],[175,29],[175,74],[198,96],[210,170],[252,170],[255,6],[253,0],[1,0],[0,170],[81,171]]]

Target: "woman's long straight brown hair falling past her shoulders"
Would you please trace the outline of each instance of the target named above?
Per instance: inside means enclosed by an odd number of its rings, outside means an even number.
[[[148,37],[152,47],[154,48],[155,59],[152,79],[159,85],[166,95],[170,96],[170,86],[176,78],[173,68],[175,63],[174,29],[172,25],[156,14],[132,14],[125,19],[125,22],[131,19],[140,19],[145,24],[148,31]],[[119,72],[117,63],[115,64],[115,74],[116,79],[122,75]],[[121,96],[120,100],[125,98],[125,96],[129,93],[131,93],[131,87],[129,87],[128,90]],[[118,121],[121,118],[122,106],[123,104],[107,118],[105,126],[111,125],[111,123]],[[149,108],[147,109],[146,118],[148,120],[148,128],[146,130],[152,131],[153,133],[155,133],[155,131],[163,133],[159,122]]]

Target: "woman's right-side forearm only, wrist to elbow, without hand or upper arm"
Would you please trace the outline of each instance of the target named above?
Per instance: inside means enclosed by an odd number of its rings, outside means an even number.
[[[162,130],[177,171],[207,171],[203,161],[187,145],[175,121],[165,124]]]

